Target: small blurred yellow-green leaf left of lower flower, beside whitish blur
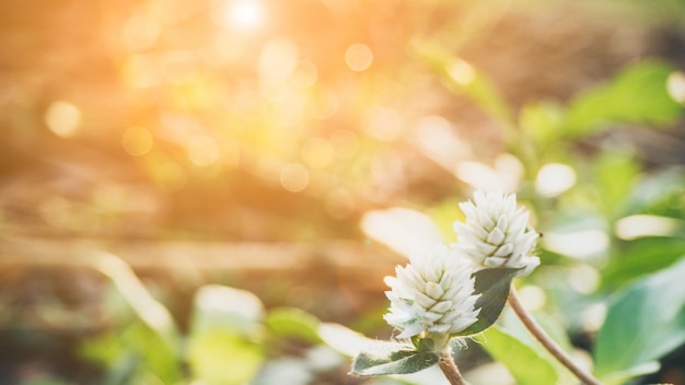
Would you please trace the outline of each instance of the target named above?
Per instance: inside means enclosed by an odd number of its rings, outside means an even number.
[[[310,342],[321,342],[321,322],[312,314],[297,307],[280,307],[269,311],[265,325],[279,336],[298,337]]]

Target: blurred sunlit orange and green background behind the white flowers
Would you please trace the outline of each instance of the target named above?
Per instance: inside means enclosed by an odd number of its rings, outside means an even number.
[[[474,188],[584,357],[685,255],[683,1],[4,0],[0,49],[1,383],[371,383],[321,325],[387,339],[396,246]]]

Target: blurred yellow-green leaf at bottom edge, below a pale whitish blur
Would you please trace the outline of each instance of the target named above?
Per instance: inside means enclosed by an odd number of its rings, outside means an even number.
[[[196,380],[208,385],[240,385],[256,375],[262,347],[230,330],[207,330],[188,341],[188,363]]]

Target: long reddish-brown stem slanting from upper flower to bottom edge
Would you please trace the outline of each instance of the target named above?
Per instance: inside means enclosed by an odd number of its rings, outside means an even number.
[[[516,313],[519,318],[521,318],[521,322],[525,325],[529,331],[537,338],[539,343],[542,343],[543,347],[552,353],[552,355],[561,362],[564,366],[568,368],[568,370],[571,371],[571,373],[573,373],[580,381],[588,385],[602,385],[602,383],[592,376],[592,374],[578,366],[573,360],[564,350],[561,350],[561,348],[552,338],[549,338],[539,324],[537,324],[535,318],[533,318],[531,313],[523,307],[513,284],[511,285],[511,291],[509,293],[509,305],[514,313]]]

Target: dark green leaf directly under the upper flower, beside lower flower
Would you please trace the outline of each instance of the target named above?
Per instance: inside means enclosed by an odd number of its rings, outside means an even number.
[[[521,269],[510,268],[484,269],[474,272],[473,277],[476,279],[474,293],[480,294],[476,301],[476,307],[480,307],[478,320],[453,336],[471,336],[492,326],[507,304],[511,281],[520,272]]]

